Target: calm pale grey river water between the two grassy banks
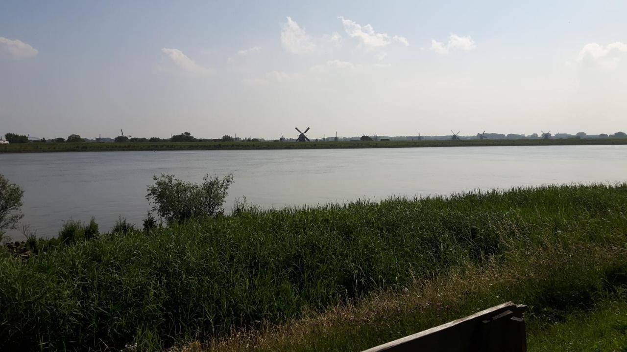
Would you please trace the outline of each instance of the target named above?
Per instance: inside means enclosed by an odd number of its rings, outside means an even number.
[[[120,216],[140,224],[152,175],[199,181],[233,173],[236,197],[263,207],[390,195],[450,194],[519,185],[627,180],[627,145],[337,150],[81,152],[0,155],[0,173],[24,189],[23,223],[54,236],[63,220]],[[19,232],[11,232],[21,239]]]

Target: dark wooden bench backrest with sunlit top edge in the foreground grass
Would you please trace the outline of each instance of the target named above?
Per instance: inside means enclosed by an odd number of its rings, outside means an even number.
[[[512,302],[499,304],[364,352],[525,351],[525,326],[522,321],[524,308]],[[519,320],[512,318],[519,318],[522,327]],[[519,341],[521,338],[522,342]],[[516,346],[524,346],[525,349]]]

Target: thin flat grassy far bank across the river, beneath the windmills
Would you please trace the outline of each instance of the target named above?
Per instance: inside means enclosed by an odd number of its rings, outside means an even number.
[[[627,138],[520,140],[399,140],[377,142],[159,142],[159,143],[15,143],[0,145],[0,153],[107,152],[125,150],[253,150],[408,147],[498,147],[519,145],[624,145]]]

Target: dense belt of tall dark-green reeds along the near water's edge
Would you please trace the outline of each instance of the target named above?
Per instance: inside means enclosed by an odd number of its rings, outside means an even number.
[[[624,250],[626,205],[627,184],[550,186],[248,210],[150,236],[119,231],[26,262],[2,259],[0,349],[206,341],[469,264],[522,265],[522,254],[547,248]],[[547,285],[564,274],[548,272]],[[583,300],[570,292],[535,301]]]

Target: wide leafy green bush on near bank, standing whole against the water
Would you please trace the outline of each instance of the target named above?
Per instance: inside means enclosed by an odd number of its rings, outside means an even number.
[[[175,179],[174,175],[154,176],[148,186],[146,199],[154,204],[152,210],[167,222],[182,222],[192,217],[216,215],[226,199],[233,174],[222,179],[204,175],[201,184]]]

